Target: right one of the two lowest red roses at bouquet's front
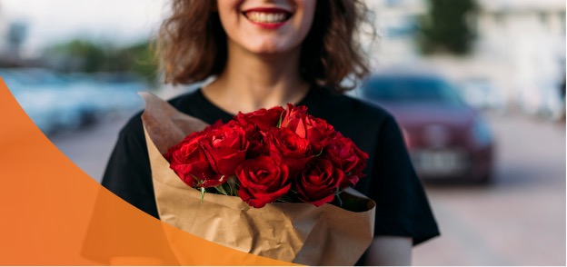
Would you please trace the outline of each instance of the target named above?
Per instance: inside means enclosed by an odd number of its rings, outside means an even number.
[[[333,166],[331,161],[321,157],[315,158],[297,175],[297,195],[303,202],[312,203],[317,207],[330,203],[343,179],[343,171]]]

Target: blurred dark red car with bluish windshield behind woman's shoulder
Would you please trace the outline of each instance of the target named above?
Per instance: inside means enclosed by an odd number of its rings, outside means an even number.
[[[490,181],[489,127],[442,76],[374,74],[363,84],[362,96],[396,118],[423,180]]]

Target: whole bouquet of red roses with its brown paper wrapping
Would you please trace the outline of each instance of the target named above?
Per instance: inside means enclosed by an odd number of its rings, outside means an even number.
[[[368,156],[306,108],[263,109],[207,125],[142,95],[164,223],[235,250],[307,265],[352,265],[372,242],[375,203],[349,187],[363,177]]]

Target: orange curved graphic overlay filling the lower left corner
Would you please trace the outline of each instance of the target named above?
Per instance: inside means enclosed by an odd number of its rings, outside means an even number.
[[[0,264],[290,265],[205,241],[108,192],[33,124],[0,79]]]

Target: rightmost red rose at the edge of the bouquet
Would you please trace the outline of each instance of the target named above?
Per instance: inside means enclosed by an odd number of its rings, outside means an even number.
[[[341,184],[341,189],[353,186],[362,178],[366,167],[368,154],[363,153],[351,139],[337,133],[325,148],[325,157],[341,168],[347,179]]]

